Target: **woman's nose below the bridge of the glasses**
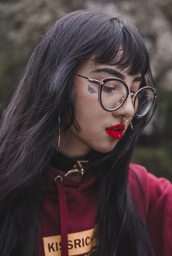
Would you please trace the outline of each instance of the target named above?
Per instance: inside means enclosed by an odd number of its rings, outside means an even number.
[[[124,115],[127,117],[132,117],[135,114],[135,110],[133,107],[133,102],[131,95],[128,95],[125,103],[116,111],[112,112],[115,116],[116,115]]]

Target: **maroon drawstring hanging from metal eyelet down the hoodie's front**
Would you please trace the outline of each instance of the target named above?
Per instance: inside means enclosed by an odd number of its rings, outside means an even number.
[[[66,192],[62,182],[62,177],[58,175],[55,178],[57,191],[58,191],[58,200],[60,206],[60,229],[61,229],[61,255],[68,256],[67,248],[67,204],[66,204]]]

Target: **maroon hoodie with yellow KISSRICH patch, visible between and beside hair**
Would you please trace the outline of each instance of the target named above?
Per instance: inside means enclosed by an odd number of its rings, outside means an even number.
[[[94,256],[99,200],[96,173],[86,172],[83,181],[79,183],[68,177],[61,178],[53,168],[50,172],[43,211],[44,248],[40,248],[39,255]],[[136,208],[148,224],[155,255],[171,256],[171,183],[164,178],[156,178],[140,165],[130,164],[129,190]]]

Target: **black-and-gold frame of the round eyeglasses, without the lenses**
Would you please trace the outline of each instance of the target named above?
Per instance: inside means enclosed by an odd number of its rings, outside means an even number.
[[[138,95],[138,93],[140,93],[140,92],[143,91],[144,89],[150,89],[150,90],[153,92],[154,98],[153,98],[153,100],[152,100],[152,103],[154,102],[155,98],[157,98],[157,94],[156,94],[155,89],[152,88],[152,87],[150,87],[150,86],[144,86],[144,87],[138,89],[138,91],[137,91],[136,93],[132,93],[132,92],[129,91],[127,84],[126,84],[122,79],[117,78],[117,77],[107,77],[107,78],[103,78],[103,79],[101,79],[101,81],[99,81],[99,80],[92,79],[92,78],[90,78],[90,77],[86,77],[86,76],[82,76],[82,75],[78,75],[78,74],[74,74],[74,75],[79,76],[79,77],[82,77],[82,78],[85,78],[85,79],[87,79],[87,80],[88,80],[89,82],[91,82],[91,83],[99,84],[98,102],[99,102],[100,107],[101,107],[103,110],[107,111],[107,112],[114,112],[114,111],[118,110],[118,109],[125,103],[125,101],[126,101],[127,98],[128,98],[128,95],[133,96],[133,97],[131,97],[131,101],[132,101],[133,108],[134,108],[134,110],[135,110],[136,96]],[[127,91],[127,96],[126,96],[126,98],[123,99],[122,103],[121,103],[117,108],[115,108],[114,110],[109,110],[108,108],[105,108],[105,107],[103,106],[102,102],[101,102],[101,92],[102,92],[102,90],[103,90],[103,87],[104,87],[105,83],[107,83],[107,82],[109,82],[109,81],[118,81],[118,82],[122,83],[122,84],[125,86],[126,91]],[[151,105],[152,105],[152,104],[151,104]],[[150,107],[151,107],[151,106],[150,106]],[[150,110],[150,108],[149,108],[149,110]],[[148,110],[148,111],[149,111],[149,110]],[[146,114],[148,113],[148,111],[147,111],[144,115],[146,115]],[[144,115],[138,116],[138,115],[136,114],[136,111],[135,111],[135,114],[134,114],[134,115],[135,115],[136,118],[142,118],[142,117],[144,116]]]

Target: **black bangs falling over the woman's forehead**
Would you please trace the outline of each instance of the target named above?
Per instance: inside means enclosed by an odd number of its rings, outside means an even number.
[[[149,73],[149,56],[136,28],[121,18],[110,19],[110,28],[96,51],[97,63],[117,65],[129,75]]]

